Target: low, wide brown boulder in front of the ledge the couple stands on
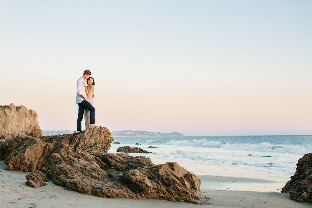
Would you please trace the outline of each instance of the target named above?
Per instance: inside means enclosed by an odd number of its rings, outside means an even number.
[[[162,199],[204,204],[200,179],[176,162],[154,165],[125,153],[60,152],[42,172],[66,190],[100,197]]]

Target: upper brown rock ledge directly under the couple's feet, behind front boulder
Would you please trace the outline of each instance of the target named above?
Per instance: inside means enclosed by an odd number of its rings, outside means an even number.
[[[0,143],[0,160],[5,159],[7,170],[41,170],[52,153],[104,152],[110,149],[114,140],[110,131],[102,126],[90,126],[85,131],[55,136],[22,137]]]

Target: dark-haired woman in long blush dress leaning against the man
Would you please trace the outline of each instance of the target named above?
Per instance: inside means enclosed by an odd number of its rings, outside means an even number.
[[[83,86],[85,86],[85,93],[87,94],[87,98],[90,100],[91,105],[95,108],[94,102],[93,102],[93,94],[94,94],[94,79],[93,77],[89,77],[87,79],[88,86],[85,85],[85,82],[83,83]],[[85,129],[87,129],[89,126],[97,126],[97,120],[96,120],[96,114],[94,116],[95,124],[90,124],[90,111],[85,108]]]

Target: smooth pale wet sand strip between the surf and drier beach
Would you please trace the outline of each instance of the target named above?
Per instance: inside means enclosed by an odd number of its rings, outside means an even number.
[[[118,152],[110,149],[108,153]],[[201,190],[280,192],[281,188],[290,180],[290,176],[293,175],[268,171],[264,168],[262,171],[249,170],[233,165],[210,164],[203,161],[177,157],[168,158],[149,153],[129,153],[129,155],[150,157],[155,165],[175,161],[201,179]]]

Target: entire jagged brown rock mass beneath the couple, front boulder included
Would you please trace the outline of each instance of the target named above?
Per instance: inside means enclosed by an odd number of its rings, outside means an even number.
[[[50,178],[67,190],[100,197],[205,203],[193,173],[176,162],[156,166],[145,156],[107,153],[113,140],[101,126],[74,134],[17,136],[0,142],[0,160],[6,160],[7,170],[32,171],[26,178],[34,188]]]

